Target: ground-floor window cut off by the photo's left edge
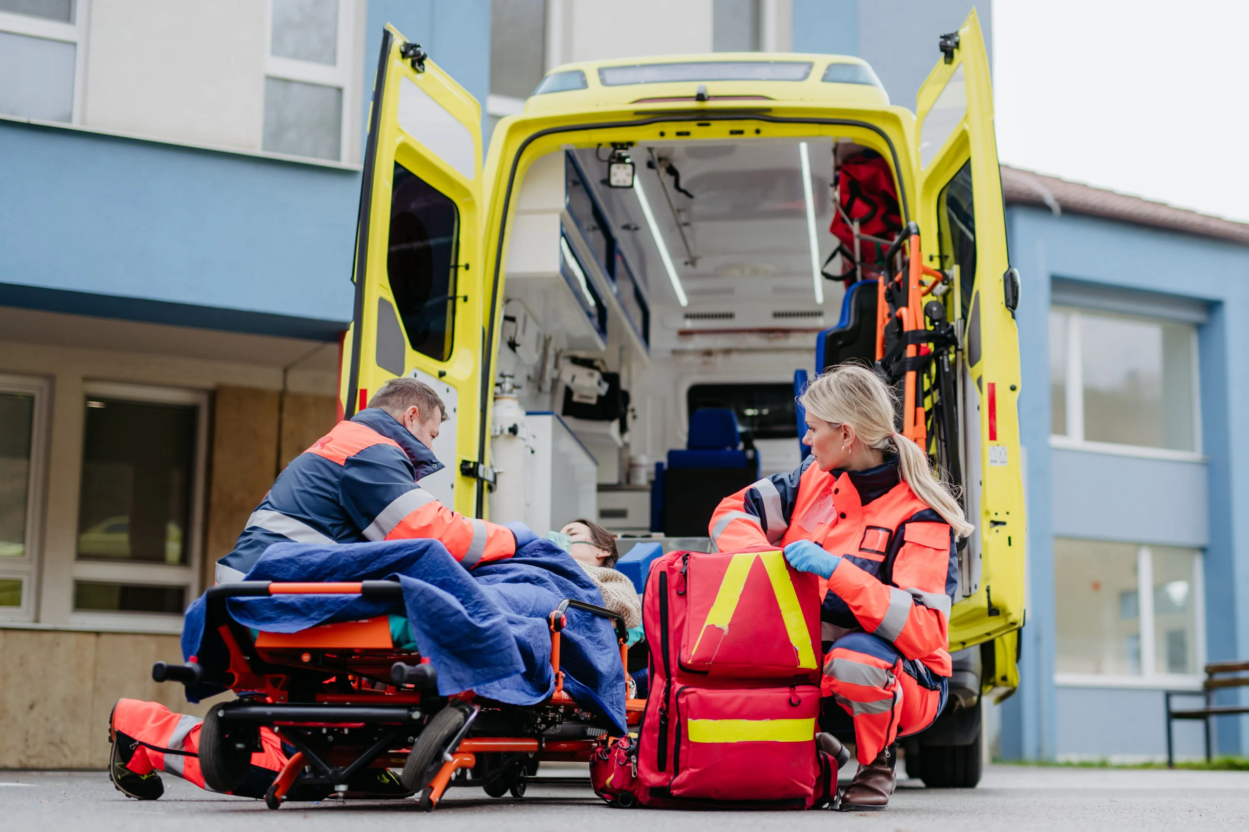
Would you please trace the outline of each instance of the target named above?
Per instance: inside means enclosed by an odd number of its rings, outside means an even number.
[[[0,620],[34,617],[47,385],[0,376]]]

